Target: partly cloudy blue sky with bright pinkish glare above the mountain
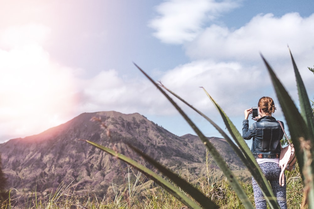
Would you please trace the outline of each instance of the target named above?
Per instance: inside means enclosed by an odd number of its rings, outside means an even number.
[[[0,3],[0,143],[112,110],[195,134],[134,63],[224,129],[204,87],[240,133],[244,110],[263,96],[285,123],[261,54],[298,105],[289,46],[314,96],[312,0]],[[221,137],[175,101],[204,135]]]

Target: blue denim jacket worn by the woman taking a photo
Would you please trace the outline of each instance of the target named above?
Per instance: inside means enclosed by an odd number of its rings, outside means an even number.
[[[246,140],[253,137],[251,151],[255,158],[279,158],[280,140],[283,136],[280,124],[273,117],[259,118],[250,128],[249,120],[243,120],[242,137]]]

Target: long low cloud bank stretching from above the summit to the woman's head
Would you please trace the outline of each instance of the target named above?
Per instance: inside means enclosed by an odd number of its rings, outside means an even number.
[[[290,59],[288,54],[287,59]],[[293,69],[289,65],[291,64],[282,65],[285,69],[290,67],[290,71],[282,76],[289,80],[283,82],[293,91],[292,96],[296,98],[295,84],[290,83],[290,80],[295,80]],[[276,100],[262,60],[256,65],[196,60],[165,72],[160,79],[153,79],[160,80],[171,91],[210,115],[218,113],[200,86],[204,87],[231,117],[242,116],[244,109],[256,106],[260,97],[270,96]],[[82,91],[78,113],[115,110],[123,113],[139,112],[155,117],[177,114],[170,102],[145,78],[129,80],[122,78],[116,70],[109,70],[82,81],[80,86]],[[181,102],[178,104],[185,110],[189,109]]]

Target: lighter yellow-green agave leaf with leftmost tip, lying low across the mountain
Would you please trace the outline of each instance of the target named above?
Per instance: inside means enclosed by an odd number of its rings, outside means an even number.
[[[162,186],[165,190],[170,192],[173,196],[175,196],[179,201],[181,201],[183,204],[190,208],[198,208],[201,209],[198,204],[196,204],[194,201],[192,201],[191,198],[187,197],[183,192],[181,192],[179,189],[177,189],[174,185],[169,183],[167,180],[163,179],[159,175],[157,175],[154,171],[149,170],[145,166],[139,164],[138,162],[134,161],[133,159],[128,158],[127,156],[117,153],[112,149],[109,149],[107,147],[104,147],[100,144],[96,144],[94,142],[80,139],[81,141],[85,141],[103,151],[105,151],[108,154],[111,154],[112,156],[115,156],[116,158],[126,162],[129,165],[132,165],[137,170],[141,171],[144,175],[146,175],[148,178],[154,180],[158,185]]]

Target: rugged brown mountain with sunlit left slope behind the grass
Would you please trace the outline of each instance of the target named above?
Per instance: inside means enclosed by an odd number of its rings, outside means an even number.
[[[72,182],[70,187],[79,194],[93,192],[103,197],[109,182],[123,181],[129,172],[127,165],[79,139],[115,149],[139,162],[140,157],[126,145],[132,144],[173,171],[206,170],[206,150],[197,136],[178,137],[138,113],[94,112],[83,113],[40,134],[0,144],[9,187],[27,193]],[[209,140],[230,168],[244,168],[224,139]]]

